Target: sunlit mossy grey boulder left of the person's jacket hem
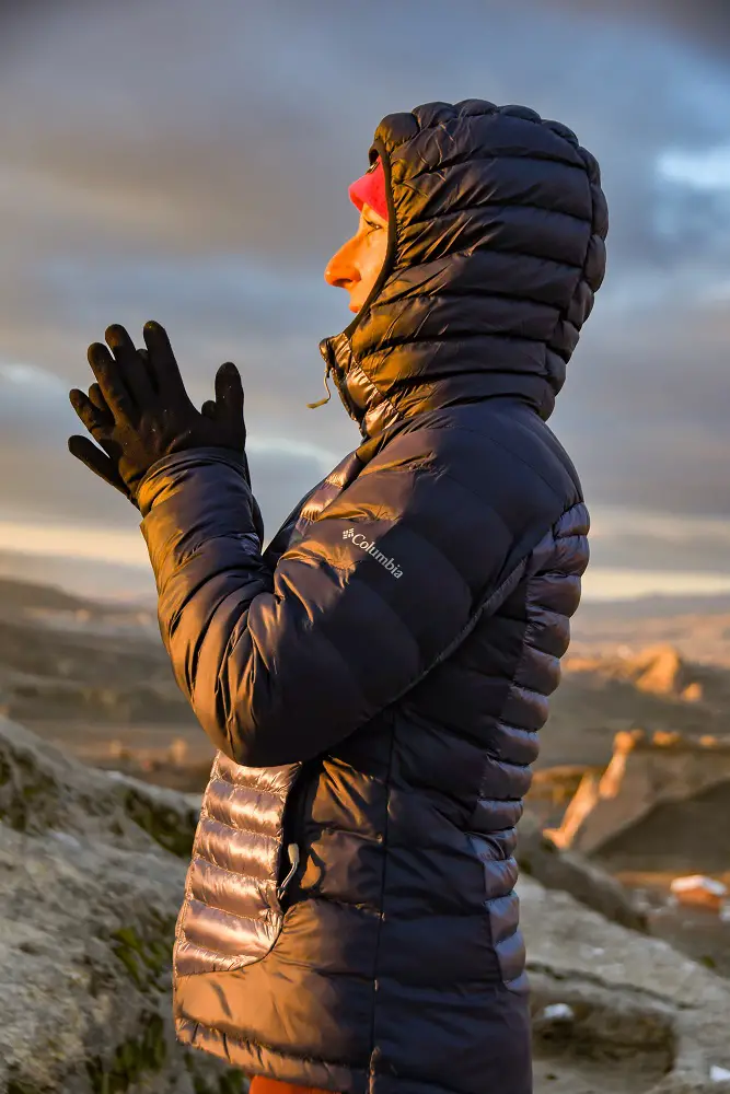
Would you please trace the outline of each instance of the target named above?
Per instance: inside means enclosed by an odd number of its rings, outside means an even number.
[[[170,956],[197,822],[0,721],[1,1094],[234,1094],[179,1046]]]

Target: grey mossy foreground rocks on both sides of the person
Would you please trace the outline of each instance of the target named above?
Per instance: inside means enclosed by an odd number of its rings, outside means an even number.
[[[246,1090],[172,1033],[196,817],[197,798],[94,771],[0,721],[0,1094]],[[615,883],[535,839],[525,829],[520,896],[536,1094],[730,1091],[728,982],[621,926],[634,912]]]

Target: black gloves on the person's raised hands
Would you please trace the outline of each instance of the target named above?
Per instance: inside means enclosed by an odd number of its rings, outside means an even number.
[[[69,438],[72,455],[134,504],[152,464],[185,449],[236,452],[248,478],[243,387],[234,364],[220,366],[216,401],[208,400],[199,412],[187,396],[160,324],[146,324],[147,350],[137,350],[118,325],[108,327],[105,338],[114,356],[101,342],[89,347],[89,363],[97,383],[91,385],[88,396],[78,388],[69,393],[71,405],[105,455],[88,438],[76,435]]]

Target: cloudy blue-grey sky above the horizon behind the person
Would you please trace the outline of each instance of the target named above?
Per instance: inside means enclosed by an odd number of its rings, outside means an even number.
[[[592,516],[583,596],[730,590],[726,0],[0,2],[0,572],[153,596],[139,514],[67,451],[111,323],[192,398],[241,369],[268,539],[359,432],[317,342],[380,119],[520,103],[598,158],[609,269],[551,428]]]

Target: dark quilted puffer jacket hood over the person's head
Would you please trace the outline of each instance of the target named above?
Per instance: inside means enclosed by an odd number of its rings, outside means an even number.
[[[596,160],[559,121],[474,98],[389,115],[379,155],[387,254],[355,319],[320,342],[325,381],[363,438],[496,395],[546,420],[605,274]]]

